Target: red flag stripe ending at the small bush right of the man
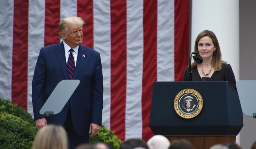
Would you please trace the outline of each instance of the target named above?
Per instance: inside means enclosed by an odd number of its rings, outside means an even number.
[[[127,24],[126,1],[110,0],[111,10],[111,104],[110,128],[125,140]]]

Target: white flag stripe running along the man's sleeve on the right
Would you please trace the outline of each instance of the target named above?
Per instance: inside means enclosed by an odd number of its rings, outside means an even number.
[[[94,49],[101,55],[103,72],[103,111],[102,124],[110,128],[110,1],[94,0]]]

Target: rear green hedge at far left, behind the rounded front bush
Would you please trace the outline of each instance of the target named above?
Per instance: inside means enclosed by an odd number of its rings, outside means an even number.
[[[21,119],[28,121],[30,124],[35,126],[35,121],[32,116],[26,112],[25,109],[18,105],[0,98],[0,112],[6,112],[14,116],[20,117]]]

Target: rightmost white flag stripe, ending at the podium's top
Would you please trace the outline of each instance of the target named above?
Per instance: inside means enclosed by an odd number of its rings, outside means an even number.
[[[174,0],[157,4],[157,81],[174,81]]]

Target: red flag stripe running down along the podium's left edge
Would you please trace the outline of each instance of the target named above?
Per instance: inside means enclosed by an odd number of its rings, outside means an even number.
[[[157,0],[144,0],[143,12],[142,138],[147,141],[154,135],[148,124],[153,82],[157,81]]]

